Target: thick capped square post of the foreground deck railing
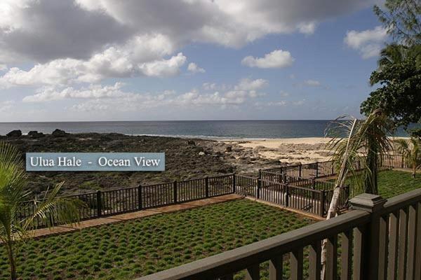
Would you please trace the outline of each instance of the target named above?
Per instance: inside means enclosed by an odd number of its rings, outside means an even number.
[[[354,277],[359,279],[381,280],[387,256],[384,254],[383,246],[387,246],[382,239],[385,238],[386,222],[378,213],[383,208],[387,200],[380,197],[380,195],[370,195],[363,193],[349,200],[352,209],[367,211],[371,214],[370,223],[364,230],[360,230],[360,235],[357,235],[356,241],[361,243],[359,248],[361,255],[354,260]],[[359,247],[357,243],[355,247]],[[358,250],[358,248],[357,248]],[[402,268],[401,268],[402,269]],[[380,275],[379,275],[380,274]]]

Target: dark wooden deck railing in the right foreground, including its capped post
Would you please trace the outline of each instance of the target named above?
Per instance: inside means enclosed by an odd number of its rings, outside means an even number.
[[[241,270],[246,270],[246,279],[258,280],[260,264],[266,261],[269,279],[283,279],[286,260],[290,279],[300,280],[308,274],[309,279],[319,280],[325,239],[327,280],[421,279],[421,189],[389,200],[363,194],[351,204],[353,211],[328,221],[138,280],[233,279]]]

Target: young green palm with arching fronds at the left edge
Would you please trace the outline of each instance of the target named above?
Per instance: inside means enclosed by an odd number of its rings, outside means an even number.
[[[52,226],[52,219],[57,223],[75,223],[79,221],[78,207],[82,206],[80,201],[57,196],[63,184],[60,183],[53,190],[47,190],[41,200],[34,199],[31,216],[19,218],[30,195],[25,192],[26,175],[22,166],[18,151],[10,144],[0,142],[0,242],[6,247],[12,280],[17,279],[19,245],[32,236],[35,221],[44,221],[48,228]]]

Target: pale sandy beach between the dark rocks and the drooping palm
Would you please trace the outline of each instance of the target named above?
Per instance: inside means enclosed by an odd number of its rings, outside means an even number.
[[[326,151],[330,139],[323,137],[229,140],[231,144],[246,148],[268,160],[279,160],[281,163],[309,163],[329,160],[331,154]]]

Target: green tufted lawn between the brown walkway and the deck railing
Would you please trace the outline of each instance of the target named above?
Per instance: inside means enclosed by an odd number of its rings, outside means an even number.
[[[29,240],[20,279],[133,279],[312,223],[258,202],[236,200]],[[262,265],[267,278],[267,264]],[[242,279],[244,273],[236,275]],[[0,246],[0,279],[8,279]]]

